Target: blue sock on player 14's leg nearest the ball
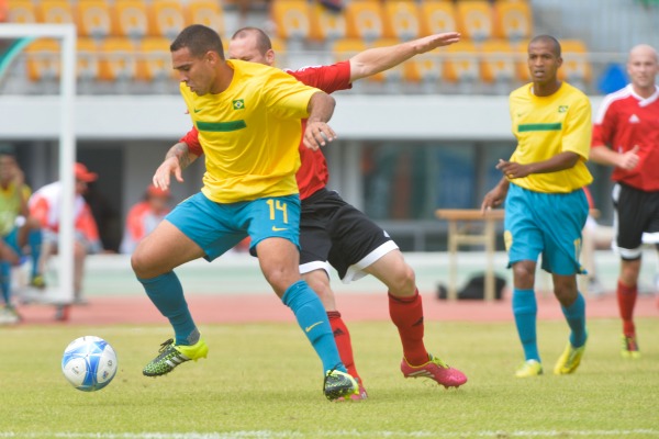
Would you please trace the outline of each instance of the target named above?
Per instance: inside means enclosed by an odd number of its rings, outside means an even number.
[[[188,309],[183,288],[175,272],[170,271],[152,279],[137,278],[137,280],[142,282],[148,299],[160,314],[169,319],[174,327],[175,344],[194,345],[199,340],[199,331]]]

